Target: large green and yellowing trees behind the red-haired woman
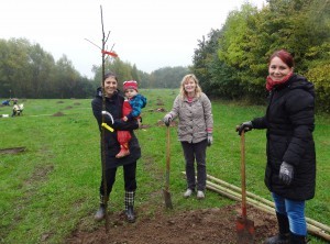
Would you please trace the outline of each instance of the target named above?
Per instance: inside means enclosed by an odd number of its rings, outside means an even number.
[[[204,90],[223,99],[265,101],[267,58],[278,48],[295,57],[295,73],[314,82],[317,107],[330,111],[330,1],[267,0],[230,12],[220,30],[198,41],[191,70]]]

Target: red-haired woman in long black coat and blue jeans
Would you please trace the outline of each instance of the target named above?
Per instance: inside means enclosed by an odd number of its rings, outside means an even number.
[[[279,233],[265,243],[306,243],[305,202],[315,196],[316,152],[314,85],[294,74],[294,58],[276,51],[270,58],[266,114],[239,125],[266,129],[265,185],[272,192]]]

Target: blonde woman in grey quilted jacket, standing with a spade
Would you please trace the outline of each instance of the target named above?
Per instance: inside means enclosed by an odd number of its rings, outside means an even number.
[[[185,198],[196,192],[197,199],[205,198],[206,191],[206,149],[213,142],[213,117],[211,102],[201,91],[195,75],[186,75],[180,84],[180,92],[174,100],[173,108],[163,121],[169,126],[178,118],[178,140],[182,143],[186,160],[187,189]],[[197,162],[197,182],[195,174]]]

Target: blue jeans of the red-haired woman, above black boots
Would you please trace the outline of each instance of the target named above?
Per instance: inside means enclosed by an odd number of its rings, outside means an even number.
[[[275,202],[275,210],[287,215],[290,232],[296,235],[307,235],[307,224],[305,219],[305,201],[294,201],[283,198],[274,192],[272,197]]]

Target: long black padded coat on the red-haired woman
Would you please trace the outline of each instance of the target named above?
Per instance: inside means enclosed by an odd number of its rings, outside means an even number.
[[[314,85],[294,75],[272,90],[266,115],[252,121],[254,129],[267,129],[265,184],[270,191],[287,199],[308,200],[315,196],[314,109]],[[294,166],[290,186],[278,178],[283,162]]]

